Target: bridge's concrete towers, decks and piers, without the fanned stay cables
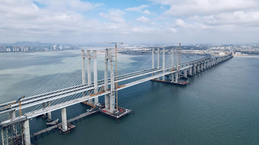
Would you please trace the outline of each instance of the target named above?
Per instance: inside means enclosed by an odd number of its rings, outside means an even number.
[[[159,52],[162,52],[162,66],[159,62]],[[30,130],[29,119],[33,117],[44,115],[51,121],[51,111],[61,109],[62,110],[62,130],[67,130],[66,121],[66,107],[83,101],[88,101],[90,104],[98,104],[98,97],[105,97],[105,111],[116,112],[115,108],[115,91],[125,89],[127,87],[143,83],[151,79],[165,80],[166,75],[171,75],[172,82],[179,82],[179,74],[183,72],[181,77],[187,78],[187,76],[193,76],[200,71],[209,69],[219,63],[224,62],[233,57],[233,52],[230,50],[229,55],[213,57],[211,54],[204,54],[204,57],[180,62],[179,51],[172,50],[170,56],[170,62],[168,65],[165,63],[165,48],[162,51],[157,50],[157,67],[154,66],[154,48],[152,49],[152,68],[144,69],[135,72],[125,73],[119,76],[115,76],[114,60],[112,49],[105,50],[104,56],[104,79],[98,80],[98,63],[97,52],[93,51],[93,56],[90,56],[90,50],[87,50],[85,54],[84,50],[81,50],[82,58],[82,84],[70,86],[67,88],[57,89],[54,91],[37,94],[34,96],[28,96],[21,99],[21,106],[19,103],[7,102],[0,104],[0,114],[8,113],[9,120],[0,123],[2,133],[2,144],[26,144],[30,145]],[[176,63],[174,63],[174,57],[176,56]],[[85,59],[87,60],[87,69],[85,65]],[[93,59],[93,73],[91,70],[91,59]],[[91,82],[91,77],[94,76],[94,81]],[[87,77],[87,78],[86,78]],[[87,80],[87,82],[86,82]],[[120,85],[118,85],[121,83]],[[80,97],[71,97],[78,95]],[[94,99],[94,101],[93,101]],[[55,103],[54,103],[55,102]],[[41,105],[36,110],[24,113],[22,116],[15,116],[15,111],[28,108],[31,106]],[[46,115],[48,113],[48,116]]]

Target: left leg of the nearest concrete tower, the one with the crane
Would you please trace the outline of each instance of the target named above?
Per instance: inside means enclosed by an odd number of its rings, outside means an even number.
[[[105,49],[105,60],[104,60],[104,90],[105,92],[109,89],[108,88],[108,60],[109,60],[109,52],[108,49]],[[110,108],[110,96],[109,94],[104,95],[105,100],[105,109]]]

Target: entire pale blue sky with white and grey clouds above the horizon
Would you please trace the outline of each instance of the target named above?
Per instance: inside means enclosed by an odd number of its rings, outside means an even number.
[[[259,42],[259,0],[0,0],[0,42]]]

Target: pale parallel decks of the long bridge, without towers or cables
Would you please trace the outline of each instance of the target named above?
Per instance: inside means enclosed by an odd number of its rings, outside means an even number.
[[[228,55],[228,56],[231,56],[231,55]],[[226,57],[226,56],[225,56]],[[232,57],[232,56],[231,56]],[[214,58],[215,59],[215,58]],[[183,62],[181,63],[179,66],[181,66],[181,69],[186,69],[188,67],[191,67],[191,66],[194,66],[194,65],[197,65],[197,64],[200,64],[201,62],[206,62],[206,61],[210,61],[212,60],[211,59],[211,56],[208,54],[206,55],[204,58],[202,59],[196,59],[196,60],[193,60],[193,61],[189,61],[189,62]],[[160,67],[159,69],[147,69],[147,70],[142,70],[142,71],[139,71],[139,72],[133,72],[133,73],[129,73],[129,74],[125,74],[125,75],[122,75],[120,76],[120,79],[118,81],[122,81],[122,80],[126,80],[126,79],[131,79],[131,78],[136,78],[136,77],[139,77],[139,76],[144,76],[144,75],[147,75],[147,74],[151,74],[151,73],[154,73],[154,72],[159,72],[157,73],[157,75],[154,75],[154,76],[145,76],[146,78],[144,79],[140,79],[140,80],[137,80],[137,81],[134,81],[134,82],[131,82],[131,83],[127,83],[125,84],[126,86],[122,87],[122,88],[118,88],[117,90],[120,90],[120,89],[124,89],[124,88],[127,88],[127,87],[130,87],[130,86],[133,86],[133,85],[137,85],[139,83],[142,83],[142,82],[145,82],[145,81],[148,81],[150,79],[154,79],[154,78],[157,78],[157,77],[160,77],[160,76],[164,76],[164,75],[167,75],[167,74],[170,74],[170,73],[174,73],[176,71],[173,71],[171,72],[170,69],[172,68],[171,65],[169,66],[166,66],[165,67],[165,72],[161,73],[162,71],[162,68]],[[102,86],[102,81],[100,81],[101,84],[100,86]],[[99,87],[100,87],[99,86]],[[78,90],[78,87],[80,88],[80,90]],[[72,89],[71,89],[72,88]],[[45,99],[44,97],[39,97],[39,98],[36,98],[36,100],[34,102],[27,102],[28,104],[26,105],[23,105],[22,108],[26,108],[26,107],[29,107],[29,106],[33,106],[33,105],[36,105],[36,104],[40,104],[40,103],[43,103],[43,102],[47,102],[47,101],[50,101],[50,100],[53,100],[53,99],[58,99],[58,98],[62,98],[62,97],[65,97],[65,96],[69,96],[69,95],[73,95],[73,94],[76,94],[76,93],[80,93],[80,92],[83,92],[83,91],[86,91],[86,90],[90,90],[90,89],[94,89],[93,87],[86,87],[86,86],[83,86],[83,89],[82,89],[82,85],[80,86],[74,86],[74,87],[70,87],[70,88],[67,88],[69,90],[62,90],[60,93],[58,94],[52,94],[52,96],[48,96],[47,99]],[[59,90],[60,91],[60,90]],[[35,117],[35,116],[38,116],[38,115],[41,115],[41,114],[44,114],[44,113],[48,113],[48,112],[51,112],[51,111],[54,111],[54,110],[58,110],[58,109],[61,109],[63,107],[66,107],[66,106],[71,106],[73,104],[76,104],[76,103],[80,103],[82,101],[86,101],[88,99],[92,99],[92,98],[95,98],[95,97],[98,97],[98,96],[103,96],[105,94],[108,94],[110,93],[110,91],[105,91],[104,93],[102,94],[99,94],[99,95],[96,95],[96,96],[80,96],[80,98],[76,98],[76,99],[73,99],[73,100],[68,100],[67,102],[63,102],[63,103],[59,103],[59,104],[55,104],[53,106],[49,106],[49,107],[46,107],[44,109],[39,109],[39,110],[35,110],[33,112],[28,112],[28,113],[25,113],[23,116],[19,116],[19,119],[18,117],[16,117],[17,120],[23,120],[23,119],[30,119],[32,117]],[[37,96],[37,95],[36,95]],[[36,97],[35,96],[35,97]],[[44,95],[43,95],[44,96]],[[33,97],[32,97],[33,98]],[[30,100],[31,98],[29,98]],[[34,98],[35,99],[35,98]],[[31,101],[31,100],[30,100]],[[2,104],[2,106],[0,106],[0,114],[1,113],[5,113],[5,112],[9,112],[9,111],[12,111],[12,110],[18,110],[19,107],[16,105],[17,104],[13,104],[12,107],[9,107],[7,110],[3,109],[3,106],[5,106],[5,104]],[[2,108],[1,108],[2,107]],[[16,107],[16,108],[13,108],[13,107]],[[14,118],[15,119],[15,118]],[[8,123],[11,123],[13,122],[13,120],[6,120],[6,121],[3,121],[0,123],[1,126],[3,126],[4,124],[8,124]]]

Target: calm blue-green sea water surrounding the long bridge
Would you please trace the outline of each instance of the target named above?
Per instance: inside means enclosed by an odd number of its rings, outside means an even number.
[[[15,100],[79,54],[80,50],[0,54],[0,103]],[[143,59],[142,55],[123,57],[133,66]],[[184,87],[140,83],[118,92],[119,106],[136,111],[135,115],[126,116],[120,123],[102,115],[87,117],[74,123],[72,133],[51,131],[38,137],[37,144],[257,145],[258,72],[259,56],[235,56],[189,77],[190,84]],[[99,102],[104,102],[103,96]],[[69,106],[67,119],[89,108],[80,103]],[[61,110],[51,114],[53,120],[61,119]],[[7,114],[0,117],[6,120]],[[33,118],[30,133],[46,128],[45,123]]]

